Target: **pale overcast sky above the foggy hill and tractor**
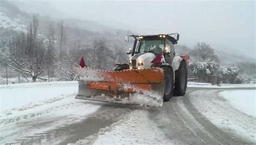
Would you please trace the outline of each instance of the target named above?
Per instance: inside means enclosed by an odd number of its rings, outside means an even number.
[[[47,1],[64,17],[93,20],[139,34],[180,33],[180,44],[255,53],[255,2]]]

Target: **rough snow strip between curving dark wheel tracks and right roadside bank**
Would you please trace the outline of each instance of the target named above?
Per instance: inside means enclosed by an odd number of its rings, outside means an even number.
[[[197,114],[193,113],[198,115],[198,118],[203,117],[204,120],[211,122],[211,124],[213,122],[213,124],[218,125],[218,130],[224,133],[220,137],[228,139],[228,141],[233,140],[236,144],[255,144],[255,118],[236,110],[224,98],[218,96],[218,92],[224,90],[226,89],[194,90],[190,93],[189,98],[185,98],[185,101],[188,104],[194,104],[194,106],[192,105],[193,108],[191,108],[192,113],[194,112],[193,110],[200,111]],[[217,128],[213,124],[212,126]],[[218,130],[214,130],[217,135],[219,135]],[[247,134],[247,136],[253,135],[254,140],[252,139],[253,137],[250,137],[250,139],[244,134]]]

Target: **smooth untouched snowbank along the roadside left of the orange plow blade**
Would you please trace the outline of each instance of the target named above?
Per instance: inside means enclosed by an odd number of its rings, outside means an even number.
[[[0,85],[0,112],[25,104],[35,104],[39,100],[61,98],[74,95],[78,91],[77,82],[45,82]],[[32,103],[33,102],[33,103]]]

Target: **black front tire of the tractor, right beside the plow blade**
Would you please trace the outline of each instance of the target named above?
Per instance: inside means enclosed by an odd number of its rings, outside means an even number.
[[[174,80],[173,80],[172,68],[164,68],[164,70],[165,70],[164,102],[166,102],[166,101],[169,101],[173,95]]]

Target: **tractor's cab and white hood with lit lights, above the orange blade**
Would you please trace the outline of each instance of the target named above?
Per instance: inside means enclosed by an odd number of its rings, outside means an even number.
[[[152,62],[156,57],[164,57],[163,63],[172,64],[175,56],[174,44],[179,40],[179,34],[159,34],[159,35],[130,35],[126,37],[135,39],[133,48],[126,54],[130,54],[129,68],[141,69],[150,68],[155,64]],[[161,55],[161,56],[159,56]]]

